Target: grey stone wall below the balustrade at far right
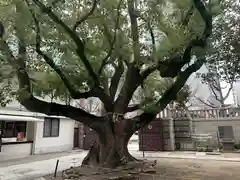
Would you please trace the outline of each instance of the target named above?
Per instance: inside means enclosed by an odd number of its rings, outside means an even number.
[[[202,120],[193,120],[193,131],[196,134],[207,134],[212,135],[211,144],[214,147],[218,146],[217,132],[218,126],[232,126],[233,134],[235,138],[235,143],[240,143],[240,119],[202,119]]]

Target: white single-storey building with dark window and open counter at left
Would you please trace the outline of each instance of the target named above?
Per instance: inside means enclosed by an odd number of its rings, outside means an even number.
[[[0,159],[72,150],[74,120],[29,112],[19,103],[0,109]]]

